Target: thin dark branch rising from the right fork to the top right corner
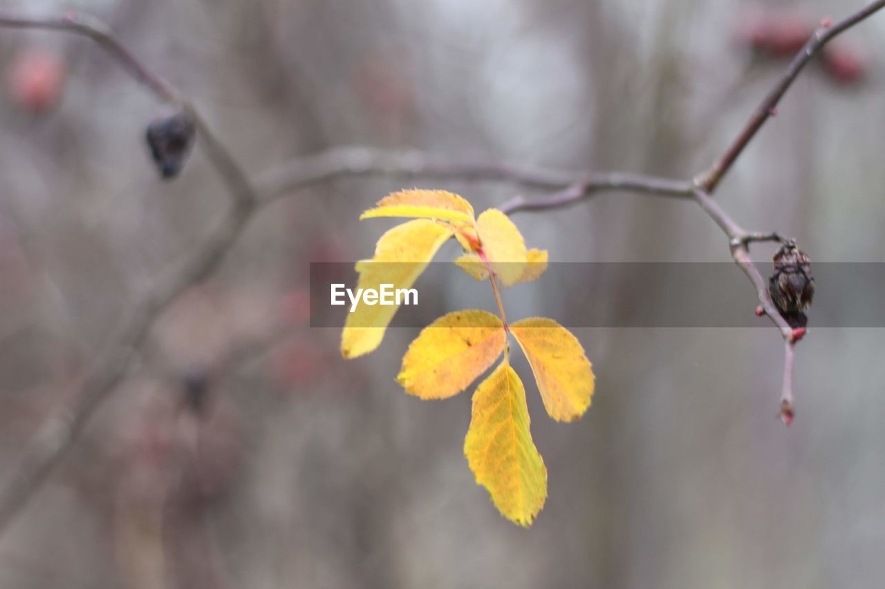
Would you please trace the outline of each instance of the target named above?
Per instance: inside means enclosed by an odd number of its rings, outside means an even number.
[[[821,49],[832,41],[836,35],[843,33],[850,27],[854,27],[858,22],[872,16],[875,12],[885,8],[885,0],[876,0],[867,4],[864,8],[851,14],[845,19],[839,21],[835,25],[824,22],[812,34],[812,38],[805,43],[796,57],[787,66],[786,71],[781,75],[781,79],[774,85],[761,103],[759,103],[756,111],[750,115],[750,119],[743,126],[741,132],[735,138],[725,153],[712,164],[709,170],[697,176],[696,183],[704,189],[704,192],[711,194],[719,186],[720,181],[735,164],[735,160],[740,157],[743,150],[756,136],[758,130],[765,125],[766,120],[772,116],[777,108],[781,98],[787,93],[790,86],[797,79],[799,73],[802,72],[805,65],[812,61],[812,58],[820,52]]]

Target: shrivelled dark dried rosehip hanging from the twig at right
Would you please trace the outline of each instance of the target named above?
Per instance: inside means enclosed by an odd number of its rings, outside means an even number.
[[[790,327],[804,327],[808,323],[805,310],[812,304],[814,296],[812,265],[808,256],[796,247],[795,241],[784,242],[774,255],[774,273],[768,279],[768,293]]]

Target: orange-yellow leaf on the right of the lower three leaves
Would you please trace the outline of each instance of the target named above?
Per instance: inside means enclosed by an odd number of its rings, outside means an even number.
[[[528,358],[544,408],[558,421],[581,417],[590,406],[594,377],[581,342],[553,319],[533,317],[510,325]]]

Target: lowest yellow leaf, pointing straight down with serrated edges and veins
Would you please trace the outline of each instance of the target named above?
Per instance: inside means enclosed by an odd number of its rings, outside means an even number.
[[[496,508],[526,527],[547,499],[547,468],[532,441],[529,421],[526,391],[504,358],[473,394],[464,454]]]

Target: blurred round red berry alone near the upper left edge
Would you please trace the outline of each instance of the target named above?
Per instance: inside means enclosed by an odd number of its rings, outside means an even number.
[[[35,113],[58,104],[65,85],[65,64],[54,54],[28,50],[12,60],[8,75],[12,99]]]

